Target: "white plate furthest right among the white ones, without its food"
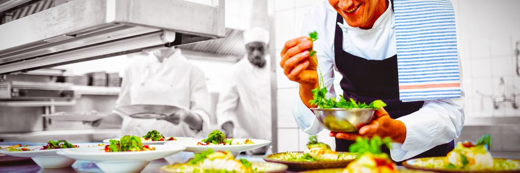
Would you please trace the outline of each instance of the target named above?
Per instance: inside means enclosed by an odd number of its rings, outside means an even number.
[[[194,140],[185,140],[185,141],[170,141],[164,143],[165,145],[181,145],[186,147],[185,151],[188,152],[202,152],[207,149],[213,149],[215,151],[230,151],[230,152],[243,152],[250,151],[257,148],[264,147],[271,143],[268,140],[262,139],[250,139],[253,141],[253,144],[240,144],[240,145],[197,145],[198,142],[202,141],[202,139],[194,139]],[[245,139],[233,139],[233,142],[243,143]]]

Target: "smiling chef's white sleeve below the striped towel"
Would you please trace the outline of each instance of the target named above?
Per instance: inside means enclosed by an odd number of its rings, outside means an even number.
[[[464,125],[462,85],[460,98],[424,101],[419,111],[399,117],[397,120],[406,126],[405,142],[392,143],[391,146],[390,154],[397,162],[458,138]]]

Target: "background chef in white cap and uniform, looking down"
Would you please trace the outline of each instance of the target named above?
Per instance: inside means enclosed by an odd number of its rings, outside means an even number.
[[[216,108],[227,137],[271,140],[269,32],[244,32],[246,55],[229,71]]]

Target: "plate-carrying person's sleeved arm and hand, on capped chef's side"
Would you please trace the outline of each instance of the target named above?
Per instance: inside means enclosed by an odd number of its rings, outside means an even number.
[[[190,113],[184,119],[188,126],[195,130],[201,131],[210,124],[210,94],[207,92],[204,73],[198,67],[193,66],[190,73]]]

